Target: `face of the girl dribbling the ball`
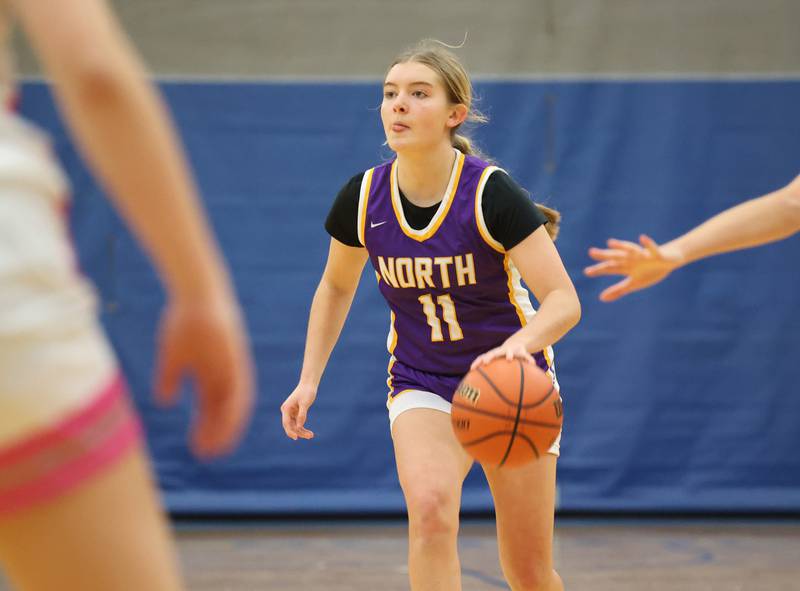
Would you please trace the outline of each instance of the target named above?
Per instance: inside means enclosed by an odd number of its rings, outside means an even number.
[[[450,103],[439,75],[424,64],[395,64],[383,83],[381,120],[395,152],[425,150],[450,143],[450,131],[467,116],[465,105]]]

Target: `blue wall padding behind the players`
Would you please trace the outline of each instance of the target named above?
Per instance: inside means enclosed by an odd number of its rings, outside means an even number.
[[[371,271],[293,442],[294,387],[328,247],[322,223],[350,176],[388,156],[377,83],[163,83],[233,269],[259,372],[241,448],[204,464],[185,445],[188,396],[151,399],[163,295],[66,139],[51,97],[23,112],[53,130],[74,181],[74,234],[144,417],[169,508],[370,513],[404,508],[386,398],[388,311]],[[691,265],[613,305],[586,249],[666,240],[800,173],[800,82],[490,82],[475,130],[534,197],[561,210],[558,247],[583,320],[556,346],[566,424],[563,510],[800,511],[800,239]],[[491,498],[475,471],[464,508]]]

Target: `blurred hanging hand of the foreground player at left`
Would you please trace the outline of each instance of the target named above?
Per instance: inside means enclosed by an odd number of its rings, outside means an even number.
[[[253,406],[254,374],[238,308],[231,298],[197,304],[170,302],[159,330],[156,397],[177,400],[184,377],[197,395],[191,446],[201,458],[231,451]]]

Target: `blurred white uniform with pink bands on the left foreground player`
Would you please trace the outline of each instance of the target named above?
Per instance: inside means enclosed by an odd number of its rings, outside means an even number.
[[[76,268],[66,176],[13,108],[9,29],[0,0],[0,517],[63,494],[141,433]]]

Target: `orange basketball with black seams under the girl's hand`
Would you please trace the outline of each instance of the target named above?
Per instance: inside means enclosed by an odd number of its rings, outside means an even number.
[[[464,376],[450,416],[473,458],[513,467],[547,453],[561,431],[561,414],[549,375],[519,359],[494,359]]]

